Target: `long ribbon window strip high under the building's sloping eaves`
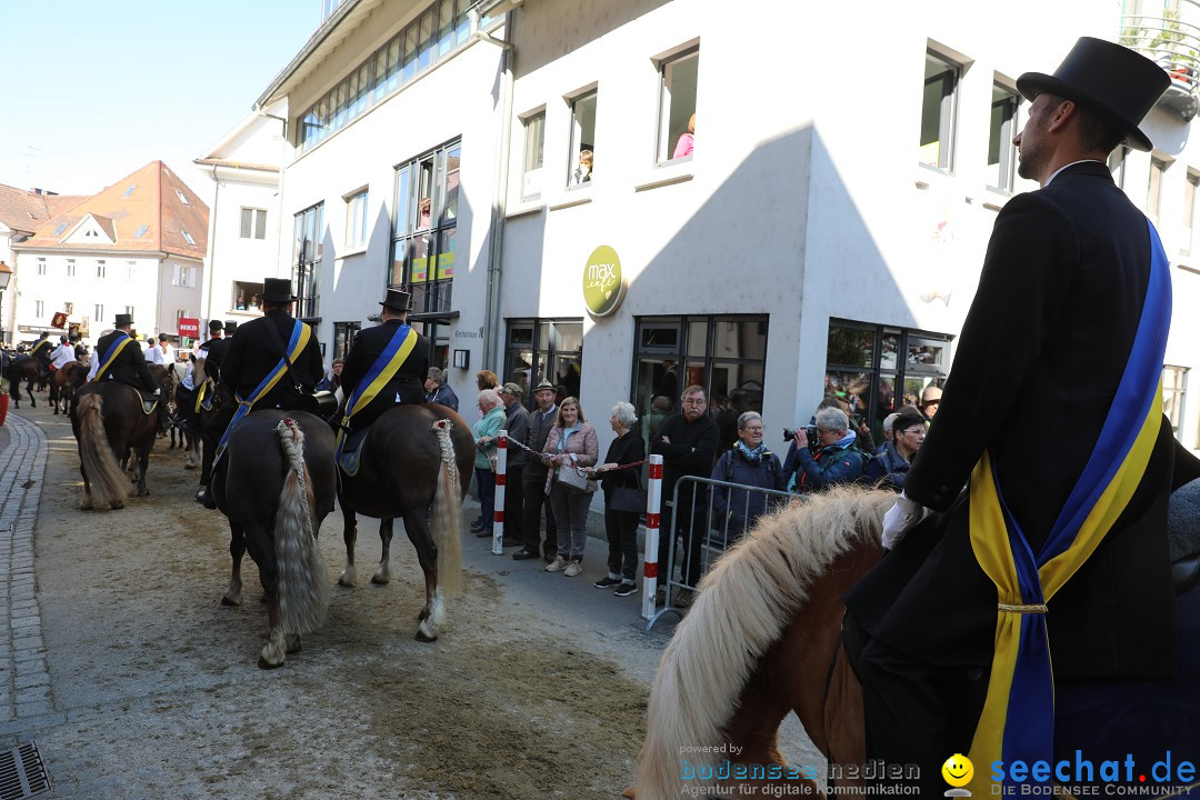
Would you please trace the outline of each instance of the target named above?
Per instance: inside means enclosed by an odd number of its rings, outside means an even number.
[[[331,0],[325,0],[331,1]],[[296,119],[296,146],[308,150],[384,102],[416,76],[470,41],[467,10],[475,0],[437,0],[378,50],[367,55]],[[503,19],[484,18],[479,29]]]

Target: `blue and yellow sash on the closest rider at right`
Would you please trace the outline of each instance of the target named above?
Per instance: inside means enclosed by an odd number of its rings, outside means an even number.
[[[1150,463],[1163,416],[1163,355],[1171,325],[1170,266],[1150,224],[1151,271],[1133,350],[1092,455],[1034,554],[984,452],[971,475],[971,546],[997,589],[996,651],[970,758],[972,790],[988,794],[992,762],[1054,763],[1054,674],[1046,602],[1124,511]],[[1010,724],[1009,724],[1010,723]],[[978,796],[978,795],[977,795]]]

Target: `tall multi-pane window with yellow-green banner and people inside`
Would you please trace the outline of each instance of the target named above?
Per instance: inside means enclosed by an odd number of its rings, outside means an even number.
[[[396,169],[388,285],[413,295],[410,319],[449,320],[461,152],[462,144],[456,142]]]

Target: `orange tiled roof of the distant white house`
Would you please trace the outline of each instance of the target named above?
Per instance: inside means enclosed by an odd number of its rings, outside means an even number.
[[[208,252],[209,206],[161,161],[151,161],[100,194],[71,206],[54,206],[58,207],[49,219],[38,224],[34,235],[18,247],[79,249],[65,240],[76,223],[90,213],[97,221],[107,217],[102,224],[115,243],[89,245],[88,249],[162,251],[197,259]],[[145,230],[138,236],[143,227]]]

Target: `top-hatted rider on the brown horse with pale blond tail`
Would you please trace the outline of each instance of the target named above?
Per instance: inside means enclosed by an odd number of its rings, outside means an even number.
[[[342,365],[342,392],[347,398],[346,411],[352,431],[361,431],[400,403],[425,402],[425,377],[430,371],[430,339],[408,326],[407,291],[388,289],[379,302],[383,320],[374,327],[360,331],[346,354]],[[410,338],[409,338],[410,337]],[[407,341],[406,341],[407,339]],[[378,371],[372,369],[378,362]],[[368,374],[377,374],[378,381],[364,384]],[[374,396],[365,398],[364,392],[374,386]],[[361,386],[360,386],[361,385]],[[358,393],[365,403],[352,407]]]

